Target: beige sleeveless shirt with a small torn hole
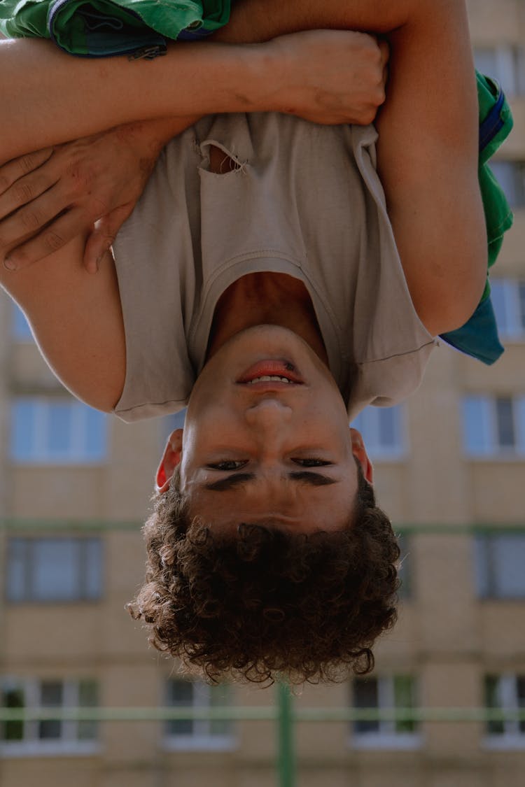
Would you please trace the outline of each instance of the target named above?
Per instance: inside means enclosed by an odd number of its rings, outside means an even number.
[[[117,416],[187,404],[216,302],[261,271],[305,284],[349,419],[416,390],[435,340],[405,282],[376,138],[257,113],[206,117],[169,142],[113,246],[127,365]],[[209,171],[211,145],[234,171]]]

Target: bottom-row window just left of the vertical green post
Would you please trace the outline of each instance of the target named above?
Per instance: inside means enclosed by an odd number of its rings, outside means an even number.
[[[168,680],[166,704],[169,708],[219,708],[231,704],[231,686],[207,685],[198,681]],[[231,722],[210,719],[172,719],[166,722],[168,748],[231,748],[234,734]]]

